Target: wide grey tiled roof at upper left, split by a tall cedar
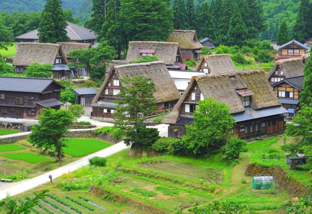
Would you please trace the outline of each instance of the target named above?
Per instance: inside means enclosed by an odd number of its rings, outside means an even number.
[[[67,36],[72,41],[80,41],[80,40],[89,40],[89,39],[95,39],[96,36],[94,34],[94,31],[91,31],[90,29],[81,27],[79,25],[76,25],[71,22],[67,22]],[[22,35],[16,36],[16,39],[39,39],[38,29],[24,33]]]

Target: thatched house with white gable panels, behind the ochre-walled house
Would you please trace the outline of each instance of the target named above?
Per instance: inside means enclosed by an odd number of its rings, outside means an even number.
[[[304,67],[303,58],[276,61],[266,78],[273,85],[284,78],[302,76]]]

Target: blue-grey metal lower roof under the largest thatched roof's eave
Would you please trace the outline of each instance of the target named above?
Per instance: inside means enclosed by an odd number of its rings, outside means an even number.
[[[251,114],[250,114],[251,111]],[[233,114],[236,119],[235,122],[249,121],[257,118],[268,117],[277,114],[287,113],[288,111],[284,107],[268,107],[254,110],[250,107],[246,107],[244,112]]]

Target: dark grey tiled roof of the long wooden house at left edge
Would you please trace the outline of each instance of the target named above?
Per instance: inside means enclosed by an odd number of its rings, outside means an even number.
[[[52,82],[60,85],[53,79],[49,78],[0,76],[0,91],[40,93]],[[64,88],[61,85],[60,87]]]

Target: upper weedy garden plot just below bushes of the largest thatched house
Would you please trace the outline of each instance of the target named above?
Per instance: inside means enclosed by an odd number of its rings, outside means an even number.
[[[161,171],[179,177],[202,180],[208,183],[222,183],[223,173],[213,168],[199,168],[195,164],[175,160],[155,160],[137,166]]]

